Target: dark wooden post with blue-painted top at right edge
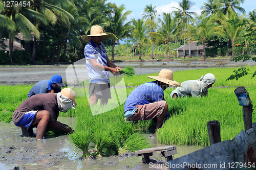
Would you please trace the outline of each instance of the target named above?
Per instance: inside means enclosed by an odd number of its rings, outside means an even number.
[[[240,106],[243,106],[244,130],[247,131],[252,126],[252,104],[249,93],[244,86],[234,90]]]

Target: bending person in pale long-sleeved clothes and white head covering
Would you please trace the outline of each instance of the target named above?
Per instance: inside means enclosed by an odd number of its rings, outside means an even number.
[[[215,83],[215,76],[211,73],[202,76],[199,80],[188,80],[182,82],[182,87],[177,87],[170,93],[171,98],[181,98],[184,96],[196,96],[200,98],[201,96],[208,95],[208,88],[212,87]]]

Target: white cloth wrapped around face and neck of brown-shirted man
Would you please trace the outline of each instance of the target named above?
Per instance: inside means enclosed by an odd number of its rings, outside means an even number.
[[[66,113],[69,109],[75,109],[73,101],[60,92],[57,93],[57,103],[61,112]]]

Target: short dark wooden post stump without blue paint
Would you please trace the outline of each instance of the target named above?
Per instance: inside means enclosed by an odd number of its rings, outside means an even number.
[[[221,141],[220,123],[218,120],[211,120],[207,122],[207,129],[210,145]]]

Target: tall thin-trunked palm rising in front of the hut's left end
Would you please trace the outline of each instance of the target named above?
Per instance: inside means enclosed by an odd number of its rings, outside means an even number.
[[[191,15],[196,15],[195,12],[188,12],[188,10],[193,6],[193,3],[189,0],[182,0],[182,3],[179,3],[179,8],[176,8],[177,10],[175,12],[174,19],[179,20],[179,26],[184,27],[184,45],[185,45],[185,39],[186,39],[186,25],[193,20],[193,17]],[[184,60],[185,60],[185,50],[183,50],[184,53]]]

